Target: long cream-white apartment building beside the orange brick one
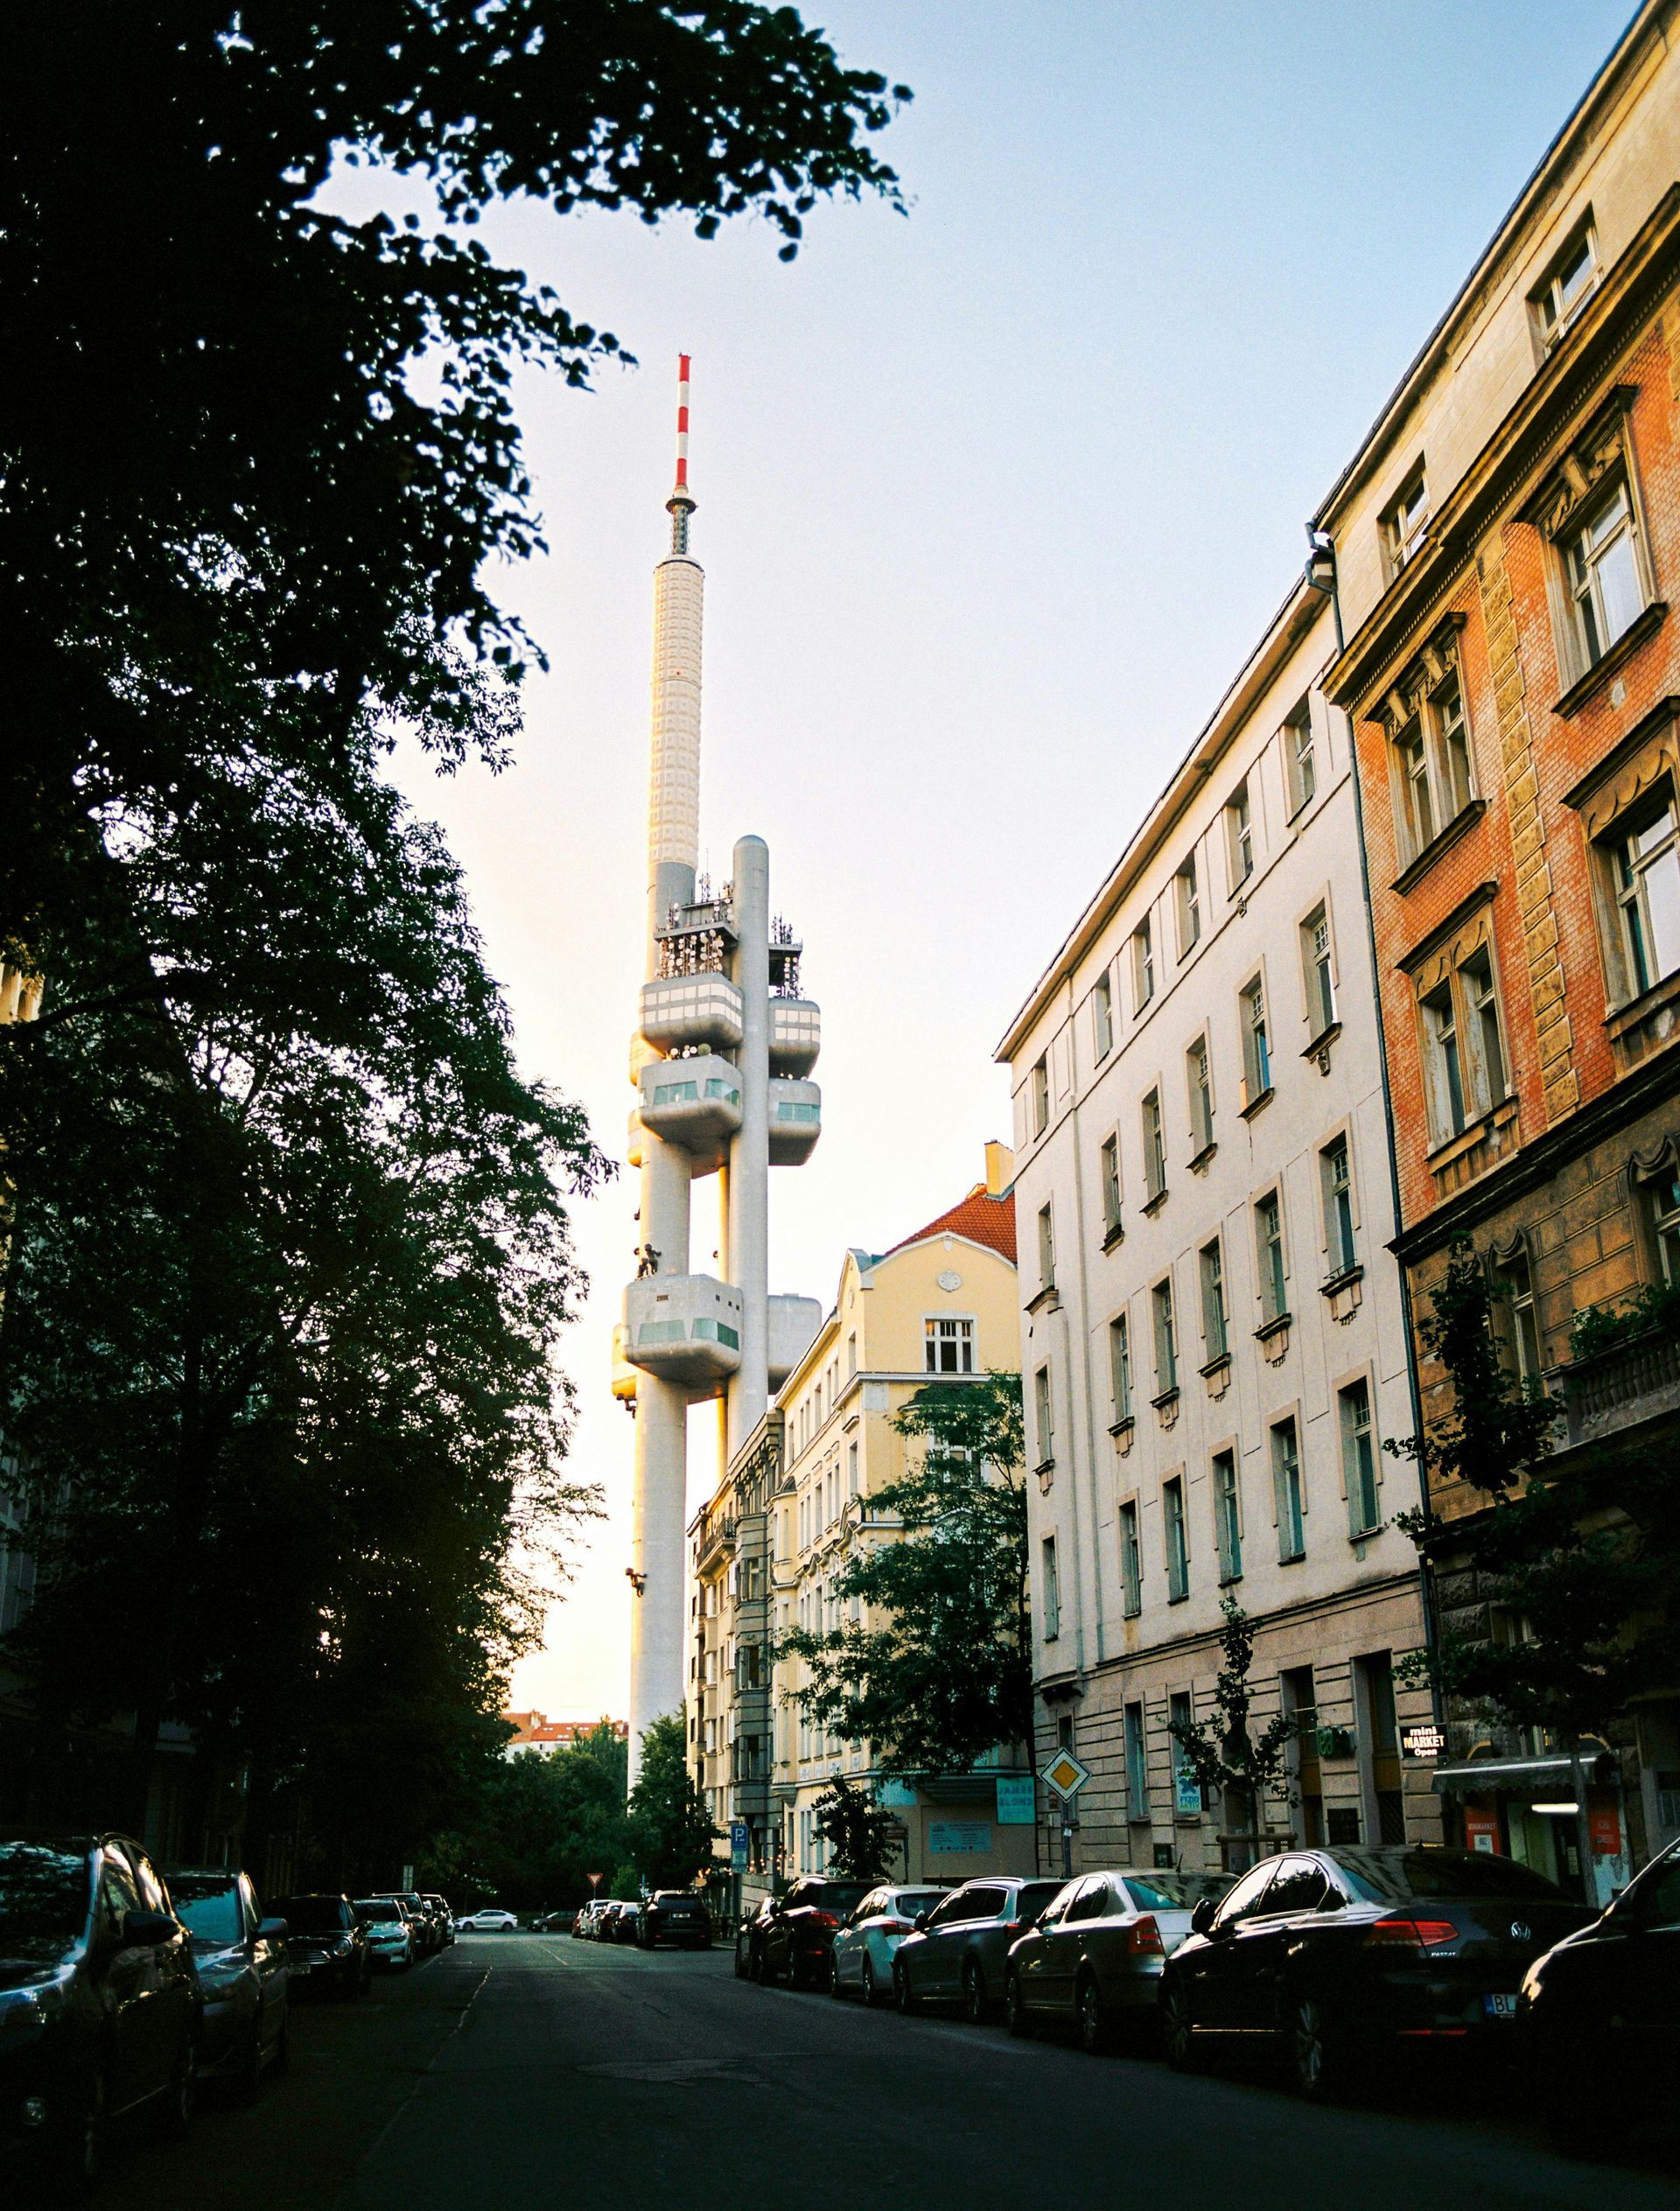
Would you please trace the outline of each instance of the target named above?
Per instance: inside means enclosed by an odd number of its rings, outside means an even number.
[[[1227,1866],[1172,1736],[1220,1605],[1256,1727],[1300,1720],[1273,1844],[1439,1835],[1397,1680],[1424,1638],[1386,1103],[1351,732],[1291,590],[1010,1024],[1039,1764],[1079,1866]],[[1057,1844],[1059,1848],[1059,1844]]]

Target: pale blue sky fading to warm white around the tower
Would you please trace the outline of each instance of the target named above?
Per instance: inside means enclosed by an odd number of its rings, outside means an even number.
[[[1280,604],[1304,517],[1631,0],[833,0],[915,102],[906,214],[486,221],[639,367],[517,385],[548,553],[493,577],[548,654],[517,765],[416,807],[466,869],[519,1059],[623,1159],[652,566],[676,354],[707,570],[703,860],[769,840],[822,1006],[822,1141],[771,1174],[771,1289],[955,1203],[1008,1139],[997,1039]],[[347,210],[389,186],[345,181]],[[705,1265],[714,1185],[696,1192]],[[573,1475],[606,1515],[515,1707],[628,1707],[632,1424],[608,1346],[637,1176],[575,1209]],[[692,1415],[690,1510],[716,1477]]]

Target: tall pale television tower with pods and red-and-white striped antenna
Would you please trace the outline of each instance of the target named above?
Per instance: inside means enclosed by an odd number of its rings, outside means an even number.
[[[630,1778],[641,1736],[683,1711],[687,1408],[725,1400],[718,1450],[752,1435],[816,1335],[816,1298],[769,1298],[769,1167],[822,1134],[822,1044],[802,946],[769,911],[769,847],[745,836],[721,889],[701,856],[705,575],[690,551],[687,354],[676,383],[670,553],[654,568],[645,982],[630,1044],[630,1163],[641,1167],[637,1278],[612,1391],[637,1422],[630,1512]],[[690,1267],[694,1185],[718,1176],[718,1274]],[[703,1238],[710,1254],[712,1240]],[[723,1475],[725,1466],[718,1466]]]

